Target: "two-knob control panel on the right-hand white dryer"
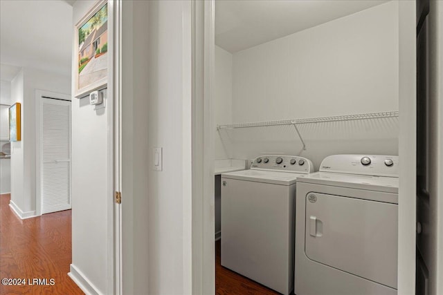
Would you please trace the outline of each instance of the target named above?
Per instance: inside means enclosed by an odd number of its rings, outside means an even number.
[[[320,172],[375,176],[399,176],[397,155],[329,155],[320,164]]]

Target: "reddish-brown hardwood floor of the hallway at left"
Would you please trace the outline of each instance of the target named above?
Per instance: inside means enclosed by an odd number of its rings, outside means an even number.
[[[71,210],[21,220],[9,200],[0,195],[0,279],[21,278],[26,285],[0,285],[0,294],[84,294],[68,276]],[[55,284],[32,285],[33,278]]]

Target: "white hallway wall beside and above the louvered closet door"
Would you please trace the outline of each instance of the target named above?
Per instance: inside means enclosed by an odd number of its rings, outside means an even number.
[[[11,142],[11,202],[35,215],[35,90],[71,93],[71,77],[22,68],[12,80],[11,101],[21,103],[21,141]]]

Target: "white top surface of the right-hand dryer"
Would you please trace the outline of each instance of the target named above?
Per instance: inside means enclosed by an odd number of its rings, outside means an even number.
[[[384,176],[316,172],[308,175],[299,175],[297,182],[365,189],[368,191],[383,191],[386,193],[399,192],[399,178]]]

